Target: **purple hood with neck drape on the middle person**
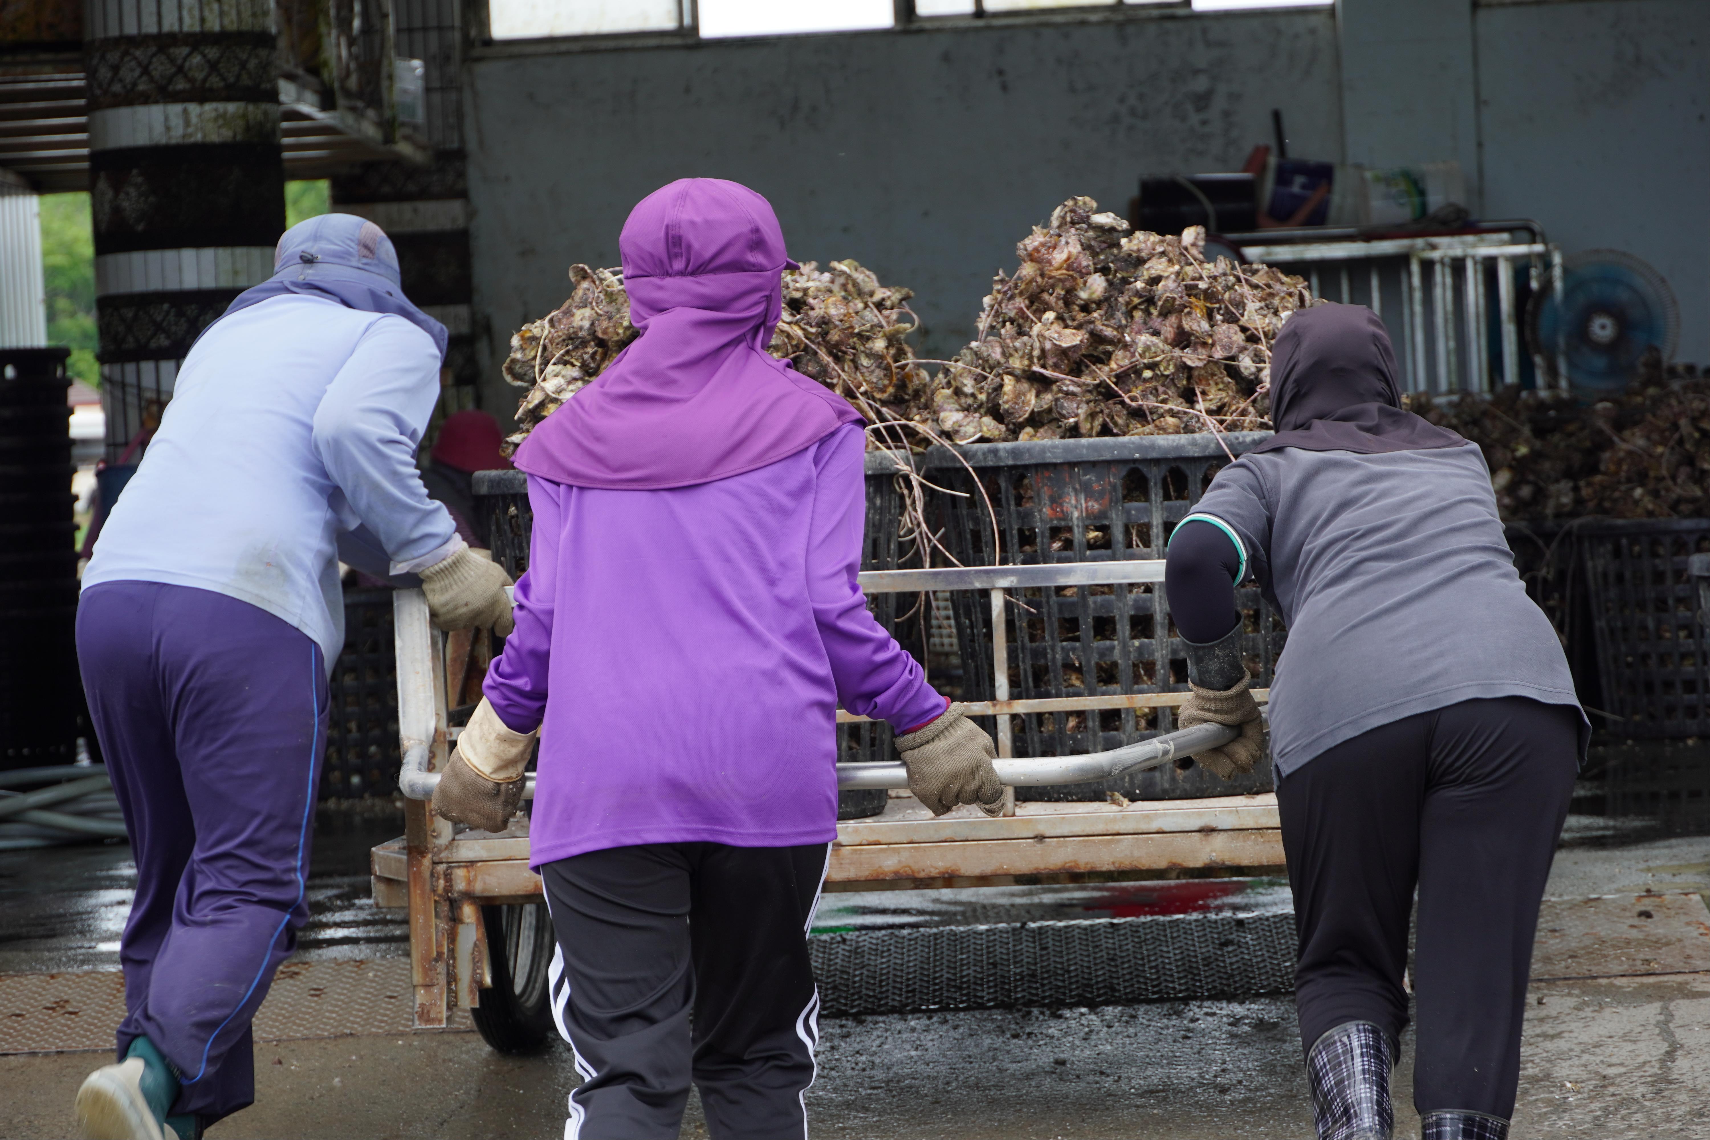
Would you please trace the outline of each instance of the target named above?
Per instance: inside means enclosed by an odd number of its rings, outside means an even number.
[[[766,354],[793,267],[766,198],[684,178],[636,205],[617,239],[641,335],[516,450],[573,487],[662,491],[740,475],[860,414]]]

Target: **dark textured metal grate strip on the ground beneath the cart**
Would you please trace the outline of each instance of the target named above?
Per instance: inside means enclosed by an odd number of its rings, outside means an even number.
[[[1250,996],[1294,988],[1294,916],[865,930],[809,954],[828,1015]]]

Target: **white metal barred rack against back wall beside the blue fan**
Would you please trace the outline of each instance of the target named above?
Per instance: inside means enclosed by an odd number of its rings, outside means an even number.
[[[1530,239],[1515,239],[1513,231],[1522,229],[1530,231]],[[1530,222],[1515,224],[1513,231],[1375,241],[1243,243],[1241,253],[1252,261],[1305,277],[1315,297],[1366,304],[1380,318],[1385,299],[1390,299],[1390,313],[1397,311],[1399,301],[1400,321],[1385,323],[1395,342],[1407,391],[1488,393],[1496,386],[1493,356],[1501,383],[1518,383],[1522,374],[1525,314],[1517,301],[1517,273],[1525,270],[1532,292],[1549,289],[1558,303],[1561,297],[1561,250],[1549,244]],[[1332,284],[1336,289],[1330,289]],[[1491,320],[1496,321],[1495,345]],[[1546,362],[1536,356],[1534,369],[1539,386],[1548,386],[1551,376],[1566,376],[1560,361]]]

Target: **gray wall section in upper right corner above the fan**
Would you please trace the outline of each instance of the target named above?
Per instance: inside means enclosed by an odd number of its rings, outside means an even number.
[[[1477,65],[1486,215],[1643,258],[1710,364],[1710,3],[1484,7]]]

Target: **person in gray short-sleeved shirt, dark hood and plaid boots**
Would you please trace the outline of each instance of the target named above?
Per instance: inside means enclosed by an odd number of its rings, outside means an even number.
[[[1426,1140],[1508,1135],[1539,901],[1589,725],[1513,569],[1477,446],[1402,410],[1383,323],[1294,313],[1271,361],[1277,434],[1223,468],[1170,542],[1182,725],[1262,755],[1235,586],[1288,622],[1271,689],[1318,1135],[1389,1137],[1418,889],[1414,1106]]]

